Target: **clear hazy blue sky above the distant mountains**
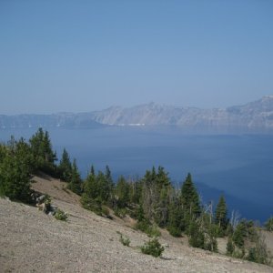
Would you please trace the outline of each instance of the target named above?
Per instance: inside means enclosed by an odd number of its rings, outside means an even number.
[[[272,0],[0,0],[0,114],[269,94]]]

